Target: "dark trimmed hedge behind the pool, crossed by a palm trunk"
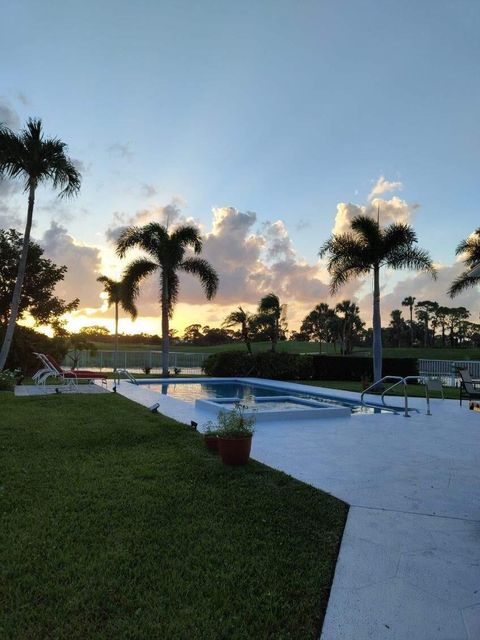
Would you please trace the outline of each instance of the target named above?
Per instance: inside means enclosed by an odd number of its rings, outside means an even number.
[[[204,365],[209,376],[254,376],[272,380],[354,380],[373,379],[371,358],[355,356],[300,355],[264,351],[223,351],[210,355]],[[415,358],[384,358],[383,375],[418,375]]]

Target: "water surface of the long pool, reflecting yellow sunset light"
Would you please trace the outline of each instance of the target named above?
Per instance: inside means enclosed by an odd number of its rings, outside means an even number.
[[[279,389],[262,384],[252,384],[248,382],[158,382],[139,380],[139,384],[147,386],[150,390],[164,395],[168,395],[184,402],[194,404],[196,400],[216,400],[219,398],[238,398],[245,404],[253,404],[255,398],[264,396],[285,396],[313,400],[319,405],[326,404],[340,407],[349,407],[352,414],[379,413],[391,410],[381,407],[364,407],[355,401],[339,399],[335,396],[315,394],[301,391],[291,391],[290,389]]]

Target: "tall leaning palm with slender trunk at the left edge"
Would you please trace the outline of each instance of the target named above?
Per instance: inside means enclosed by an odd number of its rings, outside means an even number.
[[[18,317],[37,187],[51,182],[54,189],[61,189],[59,197],[76,195],[80,189],[80,173],[65,154],[66,148],[66,144],[58,138],[44,138],[41,120],[28,120],[26,128],[19,134],[0,124],[0,179],[19,178],[25,193],[28,193],[27,222],[10,319],[0,351],[0,371],[5,366]]]

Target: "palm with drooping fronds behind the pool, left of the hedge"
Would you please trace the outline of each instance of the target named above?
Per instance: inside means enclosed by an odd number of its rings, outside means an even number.
[[[185,257],[191,247],[198,256],[202,251],[202,238],[198,229],[191,225],[177,227],[169,233],[167,227],[150,222],[143,227],[128,227],[117,242],[117,254],[123,258],[133,248],[145,251],[149,258],[137,258],[127,267],[125,277],[132,283],[135,296],[141,280],[159,271],[160,303],[162,306],[162,370],[168,376],[168,354],[170,346],[169,319],[178,299],[179,278],[177,271],[197,276],[208,300],[217,292],[218,275],[203,258]]]

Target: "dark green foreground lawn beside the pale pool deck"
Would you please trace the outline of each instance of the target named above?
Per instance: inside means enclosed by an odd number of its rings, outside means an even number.
[[[0,403],[1,637],[318,637],[342,502],[125,398]]]

